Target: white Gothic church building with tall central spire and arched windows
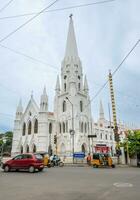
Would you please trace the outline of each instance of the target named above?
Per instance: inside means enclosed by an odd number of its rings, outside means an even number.
[[[37,105],[33,95],[25,110],[21,101],[14,122],[12,156],[22,152],[52,152],[71,156],[73,152],[115,152],[114,133],[104,118],[102,102],[99,120],[93,122],[89,88],[78,55],[73,19],[70,17],[66,50],[57,76],[54,110],[48,111],[46,88]],[[96,135],[89,138],[89,135]]]

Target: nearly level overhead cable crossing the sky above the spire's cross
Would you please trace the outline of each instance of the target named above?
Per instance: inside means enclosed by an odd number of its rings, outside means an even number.
[[[42,13],[57,12],[57,11],[63,11],[63,10],[70,10],[70,9],[73,9],[73,8],[89,7],[89,6],[98,5],[98,4],[111,3],[113,1],[117,1],[117,0],[106,0],[106,1],[99,1],[99,2],[87,3],[87,4],[79,4],[77,6],[68,6],[68,7],[64,7],[64,8],[57,8],[57,9],[47,10],[47,11],[44,11]],[[25,13],[25,14],[20,14],[20,15],[13,15],[13,16],[6,16],[6,17],[0,17],[0,20],[12,19],[12,18],[19,18],[19,17],[26,17],[26,16],[32,16],[32,15],[35,15],[35,14],[37,14],[37,12]]]

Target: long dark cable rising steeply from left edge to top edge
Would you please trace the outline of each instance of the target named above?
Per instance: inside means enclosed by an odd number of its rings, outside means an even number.
[[[38,17],[39,15],[41,15],[44,11],[46,11],[47,9],[49,9],[51,6],[53,6],[56,2],[58,2],[59,0],[55,0],[53,3],[51,3],[50,5],[46,6],[44,9],[42,9],[40,12],[38,12],[35,16],[31,17],[29,20],[27,20],[26,22],[24,22],[22,25],[20,25],[18,28],[16,28],[14,31],[10,32],[8,35],[6,35],[4,38],[2,38],[0,40],[0,43],[5,41],[6,39],[8,39],[10,36],[12,36],[14,33],[16,33],[18,30],[20,30],[21,28],[23,28],[25,25],[27,25],[28,23],[30,23],[32,20],[34,20],[36,17]]]

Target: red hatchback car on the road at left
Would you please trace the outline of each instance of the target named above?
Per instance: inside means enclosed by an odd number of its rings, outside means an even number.
[[[27,169],[31,173],[35,172],[36,169],[42,171],[44,168],[43,157],[38,153],[20,154],[5,162],[2,168],[5,172],[12,169]]]

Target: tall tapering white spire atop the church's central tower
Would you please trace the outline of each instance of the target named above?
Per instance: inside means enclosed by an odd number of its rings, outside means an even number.
[[[69,30],[68,30],[67,44],[65,50],[65,58],[69,57],[78,57],[72,14],[70,15]]]

